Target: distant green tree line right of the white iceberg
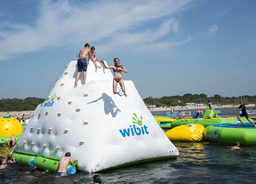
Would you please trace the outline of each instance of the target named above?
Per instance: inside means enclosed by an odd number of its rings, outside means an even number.
[[[191,94],[186,93],[183,96],[163,96],[161,98],[153,98],[149,96],[148,98],[143,99],[145,104],[154,104],[157,107],[163,106],[186,106],[186,103],[198,103],[198,104],[206,104],[208,100],[211,100],[213,105],[229,105],[229,104],[239,104],[239,102],[244,101],[245,104],[255,104],[256,103],[256,95],[255,96],[232,96],[232,97],[224,97],[220,95],[207,96],[206,94]]]

